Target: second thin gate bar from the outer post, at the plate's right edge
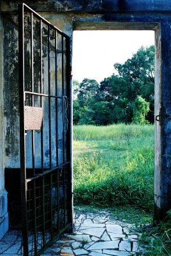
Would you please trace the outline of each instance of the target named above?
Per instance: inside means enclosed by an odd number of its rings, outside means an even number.
[[[42,70],[43,70],[43,54],[42,54],[42,22],[40,20],[40,93],[43,93],[42,88]],[[40,96],[40,107],[43,107],[43,97]],[[44,166],[44,157],[43,157],[43,121],[41,124],[41,172],[43,172],[43,166]]]

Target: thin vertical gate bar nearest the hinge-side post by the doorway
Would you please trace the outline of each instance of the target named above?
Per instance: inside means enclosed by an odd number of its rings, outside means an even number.
[[[62,90],[63,90],[63,163],[65,163],[65,102],[64,102],[64,36],[62,35]],[[63,169],[64,227],[66,226],[65,166]]]

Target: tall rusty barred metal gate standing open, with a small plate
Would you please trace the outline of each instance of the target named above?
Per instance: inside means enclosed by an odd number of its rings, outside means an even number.
[[[72,228],[70,38],[19,6],[22,255]]]

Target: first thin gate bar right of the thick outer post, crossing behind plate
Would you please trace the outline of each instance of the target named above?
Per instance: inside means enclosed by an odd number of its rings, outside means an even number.
[[[34,92],[34,71],[33,71],[33,13],[31,13],[31,91]],[[31,105],[34,106],[34,95],[31,96]],[[31,131],[31,144],[32,144],[32,168],[33,175],[35,175],[35,159],[34,159],[34,131]]]

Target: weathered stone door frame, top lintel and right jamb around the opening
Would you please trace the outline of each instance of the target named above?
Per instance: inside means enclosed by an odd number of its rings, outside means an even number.
[[[93,31],[93,30],[153,30],[155,32],[155,109],[154,109],[154,125],[155,125],[155,150],[154,150],[154,221],[158,221],[165,216],[166,211],[160,211],[158,205],[161,204],[159,185],[160,175],[160,150],[161,150],[161,31],[160,24],[157,23],[114,23],[114,22],[75,22],[73,28],[75,31]],[[156,154],[157,152],[157,154]],[[160,198],[160,200],[159,200]],[[165,213],[164,213],[165,212]]]

